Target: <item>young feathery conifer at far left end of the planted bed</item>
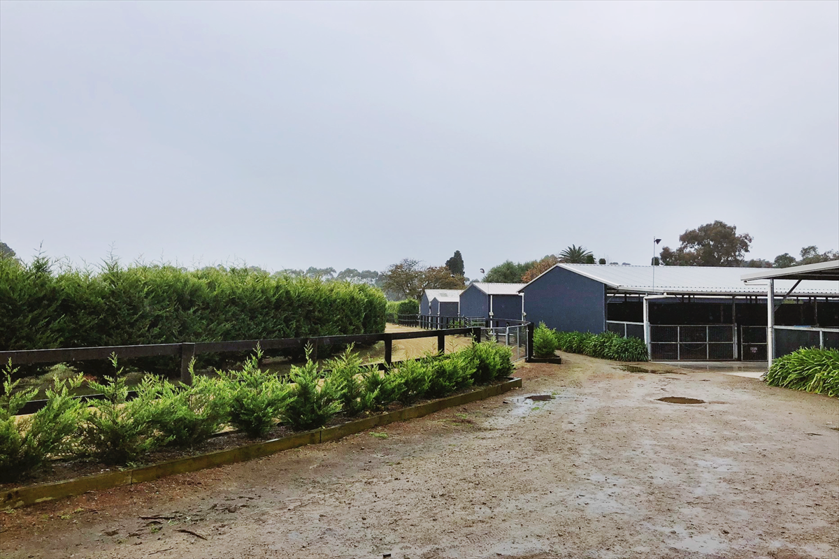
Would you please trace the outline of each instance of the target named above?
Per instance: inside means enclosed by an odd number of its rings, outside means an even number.
[[[14,481],[34,474],[51,456],[72,452],[73,435],[81,417],[82,404],[70,396],[81,385],[81,375],[70,380],[56,380],[46,392],[46,406],[29,417],[15,414],[34,396],[35,391],[14,393],[18,380],[11,361],[3,371],[3,396],[0,396],[0,482]]]

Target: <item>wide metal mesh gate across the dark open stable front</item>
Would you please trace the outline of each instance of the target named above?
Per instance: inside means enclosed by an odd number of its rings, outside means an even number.
[[[734,324],[649,326],[654,361],[726,361],[737,359]]]

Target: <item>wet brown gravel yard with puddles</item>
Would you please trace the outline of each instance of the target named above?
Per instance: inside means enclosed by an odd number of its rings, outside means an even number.
[[[0,555],[839,556],[839,401],[563,356],[412,422],[0,513]]]

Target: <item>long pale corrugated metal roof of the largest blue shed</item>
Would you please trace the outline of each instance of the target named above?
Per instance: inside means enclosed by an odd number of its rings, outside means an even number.
[[[766,295],[766,282],[744,283],[744,268],[737,267],[604,266],[601,264],[557,264],[555,267],[562,267],[570,272],[602,282],[623,293]],[[533,282],[539,281],[539,277],[536,277]],[[776,292],[789,291],[794,285],[795,282],[792,280],[776,280],[775,290]],[[836,297],[839,295],[839,282],[803,281],[795,287],[795,295]]]

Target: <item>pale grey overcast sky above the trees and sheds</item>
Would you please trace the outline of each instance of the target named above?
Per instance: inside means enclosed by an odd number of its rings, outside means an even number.
[[[0,239],[31,258],[466,275],[839,248],[839,3],[0,3]]]

